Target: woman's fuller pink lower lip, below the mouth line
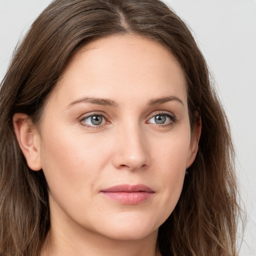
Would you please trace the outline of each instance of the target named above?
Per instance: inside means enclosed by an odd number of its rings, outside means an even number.
[[[154,192],[100,192],[108,199],[114,200],[122,204],[138,204],[148,200]]]

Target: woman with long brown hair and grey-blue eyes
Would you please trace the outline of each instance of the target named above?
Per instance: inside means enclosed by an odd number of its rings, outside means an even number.
[[[55,0],[0,91],[1,255],[236,255],[225,114],[158,0]]]

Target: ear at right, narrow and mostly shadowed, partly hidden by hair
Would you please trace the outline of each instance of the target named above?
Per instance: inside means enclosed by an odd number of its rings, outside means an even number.
[[[195,122],[193,130],[191,131],[189,151],[186,159],[186,168],[188,168],[194,161],[196,153],[198,151],[198,142],[201,134],[201,116],[198,112],[195,112]]]

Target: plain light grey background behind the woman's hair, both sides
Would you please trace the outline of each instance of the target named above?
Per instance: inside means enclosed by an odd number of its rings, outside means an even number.
[[[51,0],[0,0],[0,80],[18,39]],[[192,28],[231,123],[247,210],[240,255],[256,255],[256,0],[165,0]]]

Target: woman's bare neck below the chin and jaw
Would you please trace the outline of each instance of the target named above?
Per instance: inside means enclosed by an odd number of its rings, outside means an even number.
[[[160,256],[157,231],[136,240],[116,240],[90,231],[84,235],[51,228],[40,256]]]

